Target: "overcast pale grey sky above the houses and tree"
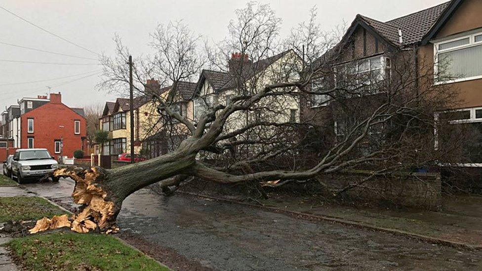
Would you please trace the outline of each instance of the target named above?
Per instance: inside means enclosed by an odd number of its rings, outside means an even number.
[[[282,18],[281,35],[285,36],[318,7],[319,20],[325,30],[343,21],[350,24],[357,13],[386,21],[446,0],[261,0],[270,3]],[[225,37],[233,10],[246,0],[2,0],[0,6],[69,39],[92,51],[113,53],[112,37],[118,33],[134,55],[149,52],[149,33],[159,23],[183,20],[203,38]],[[96,58],[86,50],[57,39],[0,9],[0,60],[90,63],[79,59],[27,50],[4,43],[32,47],[68,55]],[[0,61],[0,110],[16,104],[22,97],[37,97],[62,92],[63,102],[72,107],[114,100],[115,96],[95,88],[100,70],[97,65],[45,65]],[[93,75],[93,76],[91,76]],[[52,78],[55,80],[40,81]],[[62,84],[62,85],[61,85]]]

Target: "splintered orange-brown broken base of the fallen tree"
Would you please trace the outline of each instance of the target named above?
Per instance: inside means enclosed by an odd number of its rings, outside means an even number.
[[[69,227],[74,232],[86,233],[99,231],[105,233],[118,232],[115,225],[120,207],[108,200],[108,193],[101,183],[106,179],[107,171],[93,167],[88,170],[80,168],[62,168],[54,172],[54,177],[70,177],[76,185],[72,196],[74,202],[82,205],[81,211],[70,220],[67,215],[54,216],[52,219],[42,218],[30,233],[43,232]]]

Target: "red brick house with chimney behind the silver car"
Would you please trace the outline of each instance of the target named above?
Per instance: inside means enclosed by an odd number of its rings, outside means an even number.
[[[64,105],[60,92],[50,94],[48,103],[21,115],[20,123],[22,149],[45,148],[55,158],[73,157],[76,150],[85,150],[85,117]]]

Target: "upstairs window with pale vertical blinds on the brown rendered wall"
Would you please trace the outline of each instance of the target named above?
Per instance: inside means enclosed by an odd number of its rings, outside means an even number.
[[[435,83],[482,78],[482,33],[434,44]]]

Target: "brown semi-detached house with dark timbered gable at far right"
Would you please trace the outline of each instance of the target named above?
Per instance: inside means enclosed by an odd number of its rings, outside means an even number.
[[[450,115],[452,125],[471,123],[475,130],[482,131],[481,14],[481,0],[451,0],[384,22],[359,14],[335,47],[343,48],[339,56],[332,60],[328,52],[323,57],[332,61],[333,69],[356,63],[357,72],[376,73],[385,79],[395,64],[391,61],[393,53],[405,54],[413,59],[414,70],[435,75],[431,84],[455,90],[454,99],[460,102],[454,108],[441,108],[440,114],[455,111],[457,114]],[[438,69],[442,59],[444,74]],[[446,75],[451,79],[439,79]],[[302,108],[303,119],[318,116],[318,121],[331,121],[331,134],[336,137],[341,125],[334,115],[329,97],[324,95],[310,97]],[[460,165],[481,167],[482,133],[473,136],[479,144],[466,150],[470,162]],[[443,148],[437,136],[434,141],[435,148]]]

